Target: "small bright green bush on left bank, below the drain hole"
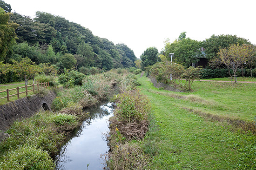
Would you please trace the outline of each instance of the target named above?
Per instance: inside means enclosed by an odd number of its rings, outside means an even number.
[[[76,121],[76,116],[68,114],[53,115],[51,118],[52,121],[59,126],[63,126],[65,124],[72,124]]]

